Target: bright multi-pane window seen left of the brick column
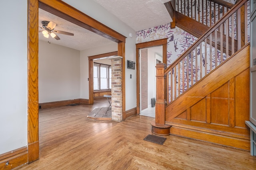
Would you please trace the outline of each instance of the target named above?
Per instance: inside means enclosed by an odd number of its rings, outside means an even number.
[[[94,63],[93,65],[93,89],[111,89],[111,66],[106,64]]]

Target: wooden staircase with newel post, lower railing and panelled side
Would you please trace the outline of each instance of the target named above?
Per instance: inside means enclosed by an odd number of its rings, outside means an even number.
[[[250,96],[244,11],[247,0],[240,0],[213,25],[205,22],[210,28],[170,66],[156,66],[152,133],[250,149],[250,133],[244,123],[249,120]],[[234,33],[232,27],[238,31]]]

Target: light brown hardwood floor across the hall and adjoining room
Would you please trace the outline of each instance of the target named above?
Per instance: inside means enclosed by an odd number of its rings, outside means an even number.
[[[93,121],[96,107],[63,106],[39,112],[40,159],[20,170],[181,170],[256,168],[250,152],[176,136],[164,145],[144,141],[153,117],[136,115],[122,122]]]

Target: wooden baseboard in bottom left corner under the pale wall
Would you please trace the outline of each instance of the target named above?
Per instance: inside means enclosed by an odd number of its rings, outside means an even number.
[[[24,166],[28,162],[28,147],[0,154],[0,169],[11,170]]]

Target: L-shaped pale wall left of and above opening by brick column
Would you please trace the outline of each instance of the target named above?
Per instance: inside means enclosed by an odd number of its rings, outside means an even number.
[[[110,53],[117,51],[117,43],[108,44],[100,48],[86,49],[80,52],[80,67],[81,67],[81,84],[80,84],[80,95],[82,99],[89,99],[89,64],[88,57],[93,55],[99,55],[104,53]],[[96,60],[97,62],[97,60]]]

